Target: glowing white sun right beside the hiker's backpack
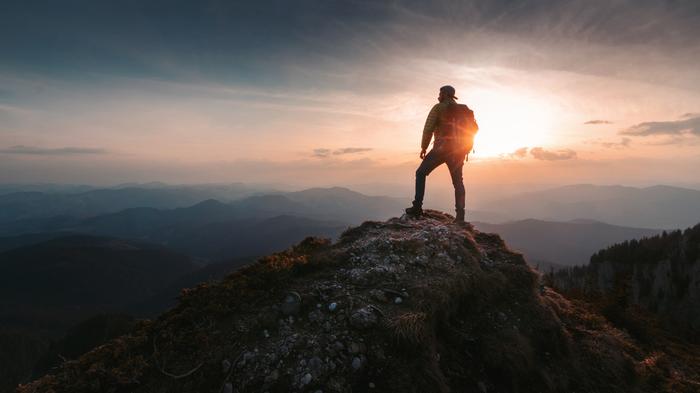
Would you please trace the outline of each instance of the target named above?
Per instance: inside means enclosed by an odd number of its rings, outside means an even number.
[[[483,90],[470,94],[479,133],[475,156],[497,157],[525,146],[549,145],[555,111],[544,100],[524,93]]]

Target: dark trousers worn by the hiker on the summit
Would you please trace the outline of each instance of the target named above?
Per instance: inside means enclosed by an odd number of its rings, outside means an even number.
[[[420,166],[416,170],[416,196],[413,199],[413,206],[422,206],[425,196],[425,178],[442,164],[447,164],[452,177],[452,185],[455,187],[455,210],[464,211],[465,191],[462,179],[462,167],[466,153],[455,152],[451,149],[436,147],[423,158]]]

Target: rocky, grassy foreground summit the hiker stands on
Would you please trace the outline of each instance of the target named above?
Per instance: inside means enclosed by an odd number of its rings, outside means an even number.
[[[697,392],[697,353],[640,344],[498,235],[427,211],[183,291],[19,391]]]

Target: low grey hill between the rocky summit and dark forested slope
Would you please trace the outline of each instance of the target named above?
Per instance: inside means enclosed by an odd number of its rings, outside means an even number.
[[[540,269],[584,265],[601,248],[661,232],[594,220],[553,222],[528,219],[504,224],[474,224],[481,231],[498,233],[511,247],[525,254],[531,265],[540,265]]]

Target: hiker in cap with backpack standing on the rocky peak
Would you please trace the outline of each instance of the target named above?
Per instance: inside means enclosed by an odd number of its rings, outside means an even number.
[[[408,215],[423,214],[425,178],[433,169],[447,164],[455,188],[455,222],[464,223],[465,191],[462,167],[474,146],[474,135],[479,127],[474,120],[474,112],[466,105],[457,104],[455,100],[457,97],[454,87],[441,87],[439,102],[433,106],[425,120],[420,151],[423,162],[416,170],[416,195],[413,206],[406,209]],[[433,149],[426,154],[433,135]]]

